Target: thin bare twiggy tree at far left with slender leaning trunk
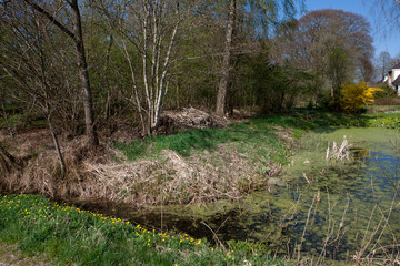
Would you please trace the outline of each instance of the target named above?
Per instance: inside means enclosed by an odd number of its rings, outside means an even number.
[[[9,96],[37,108],[44,114],[59,157],[61,177],[64,177],[66,164],[52,123],[52,113],[62,101],[62,90],[56,89],[57,84],[60,84],[59,75],[54,74],[58,65],[49,55],[53,57],[62,48],[49,45],[47,41],[50,39],[51,30],[48,21],[29,12],[23,4],[16,4],[7,10],[7,16],[1,22],[6,27],[2,28],[3,37],[0,39],[0,66],[6,76],[14,82]]]

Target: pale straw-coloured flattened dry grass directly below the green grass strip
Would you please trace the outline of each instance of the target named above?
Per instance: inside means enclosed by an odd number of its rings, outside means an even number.
[[[220,145],[207,155],[181,157],[163,151],[154,161],[84,163],[84,172],[96,186],[83,196],[99,195],[133,205],[192,204],[221,198],[237,200],[267,187],[268,175],[254,173],[258,163]],[[276,175],[280,166],[270,166]],[[96,187],[96,188],[94,188]]]

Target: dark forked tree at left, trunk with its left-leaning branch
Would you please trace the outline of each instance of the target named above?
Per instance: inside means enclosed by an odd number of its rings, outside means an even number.
[[[33,0],[23,0],[34,10],[47,17],[51,23],[57,25],[64,34],[71,38],[76,44],[77,51],[77,63],[79,70],[79,76],[82,85],[83,105],[84,105],[84,124],[86,133],[89,137],[89,144],[93,149],[99,145],[99,139],[94,126],[94,113],[93,113],[93,101],[91,95],[89,70],[84,54],[84,43],[82,35],[82,22],[79,11],[78,0],[67,1],[73,13],[73,31],[68,29],[68,25],[61,23],[56,16],[51,14],[50,11],[40,7]]]

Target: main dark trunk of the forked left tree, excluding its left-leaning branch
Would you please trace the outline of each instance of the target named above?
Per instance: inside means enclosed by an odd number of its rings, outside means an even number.
[[[81,16],[79,13],[78,0],[72,0],[70,4],[73,10],[73,19],[76,23],[74,41],[77,48],[79,78],[82,82],[83,91],[86,134],[89,137],[90,146],[96,147],[99,145],[99,139],[94,129],[93,101],[90,89],[89,70],[84,54]]]

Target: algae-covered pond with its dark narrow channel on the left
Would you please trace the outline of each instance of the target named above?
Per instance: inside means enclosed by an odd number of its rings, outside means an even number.
[[[336,142],[339,149],[344,137],[349,158],[327,158],[328,147]],[[399,133],[384,129],[319,129],[302,137],[284,177],[236,203],[141,213],[104,203],[80,207],[217,244],[262,243],[272,255],[310,264],[390,259],[400,250],[398,142]]]

